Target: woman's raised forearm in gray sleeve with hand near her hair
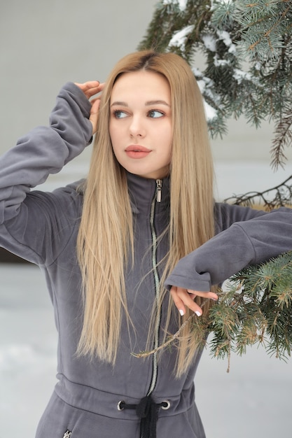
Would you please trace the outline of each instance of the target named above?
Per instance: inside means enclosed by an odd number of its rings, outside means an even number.
[[[91,142],[98,100],[92,105],[88,97],[101,90],[97,81],[64,85],[50,115],[50,125],[36,127],[22,136],[0,158],[0,224],[18,213],[31,188],[46,181],[49,174],[59,172]]]

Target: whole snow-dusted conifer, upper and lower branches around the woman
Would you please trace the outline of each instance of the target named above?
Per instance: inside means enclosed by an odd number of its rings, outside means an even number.
[[[239,115],[258,128],[262,120],[274,123],[271,165],[284,166],[292,143],[291,0],[160,0],[139,45],[144,48],[176,52],[190,64],[211,136],[223,136],[226,120]],[[291,205],[291,199],[292,176],[275,188],[228,200],[260,201],[272,209]],[[257,343],[279,358],[291,355],[292,253],[244,269],[219,295],[209,316],[188,321],[201,346],[209,330],[218,358]]]

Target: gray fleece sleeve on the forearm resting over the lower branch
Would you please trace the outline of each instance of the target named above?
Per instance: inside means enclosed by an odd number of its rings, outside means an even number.
[[[251,210],[251,209],[249,209]],[[249,211],[247,217],[252,215]],[[292,250],[292,210],[256,212],[234,222],[192,253],[183,257],[165,281],[191,290],[208,291],[249,264],[257,264]]]

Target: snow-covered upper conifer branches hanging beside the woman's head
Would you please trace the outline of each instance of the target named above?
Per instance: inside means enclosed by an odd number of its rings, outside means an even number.
[[[172,51],[195,66],[204,57],[204,71],[195,76],[206,101],[212,137],[227,132],[228,118],[244,115],[260,127],[269,118],[277,124],[272,167],[283,166],[291,143],[290,112],[283,108],[292,95],[292,3],[287,0],[160,0],[139,45]],[[246,58],[249,63],[246,64]]]

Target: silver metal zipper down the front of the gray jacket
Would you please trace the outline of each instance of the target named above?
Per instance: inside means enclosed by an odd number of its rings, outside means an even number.
[[[156,319],[155,319],[155,332],[154,332],[154,343],[153,343],[154,350],[159,346],[159,329],[160,329],[160,320],[161,320],[160,278],[157,269],[157,235],[154,225],[154,218],[155,218],[155,205],[156,202],[161,202],[161,193],[162,193],[162,181],[158,179],[156,180],[156,190],[151,203],[151,212],[150,212],[150,227],[151,227],[151,235],[152,235],[152,268],[154,275],[155,298],[156,298]],[[157,375],[158,375],[158,358],[157,358],[157,352],[154,352],[153,371],[152,371],[151,383],[147,395],[151,395],[153,393],[157,381]]]

